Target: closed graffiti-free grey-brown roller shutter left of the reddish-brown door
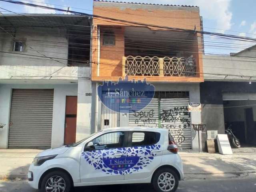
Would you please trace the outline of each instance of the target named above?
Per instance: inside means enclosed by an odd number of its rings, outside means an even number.
[[[50,148],[53,89],[13,89],[9,148]]]

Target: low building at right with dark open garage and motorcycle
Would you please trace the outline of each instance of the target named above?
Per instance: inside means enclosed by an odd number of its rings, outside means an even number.
[[[200,84],[202,122],[206,130],[232,124],[242,145],[256,144],[256,46],[230,56],[203,56],[204,80]],[[206,150],[206,133],[202,134]]]

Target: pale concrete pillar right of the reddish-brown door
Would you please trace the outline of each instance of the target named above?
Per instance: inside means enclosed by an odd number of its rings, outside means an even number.
[[[91,80],[87,78],[78,78],[76,141],[91,134],[91,107]]]

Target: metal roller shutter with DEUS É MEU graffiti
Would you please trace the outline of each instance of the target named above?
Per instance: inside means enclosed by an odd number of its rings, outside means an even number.
[[[148,103],[148,99],[141,99],[140,103],[136,105],[145,106],[144,103]],[[129,113],[129,126],[133,127],[154,127],[158,128],[158,99],[153,98],[151,102],[142,110]]]

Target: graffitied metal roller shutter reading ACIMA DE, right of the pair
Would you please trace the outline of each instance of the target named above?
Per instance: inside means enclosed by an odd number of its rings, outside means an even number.
[[[167,128],[179,148],[191,148],[191,118],[189,98],[160,99],[161,128]]]

